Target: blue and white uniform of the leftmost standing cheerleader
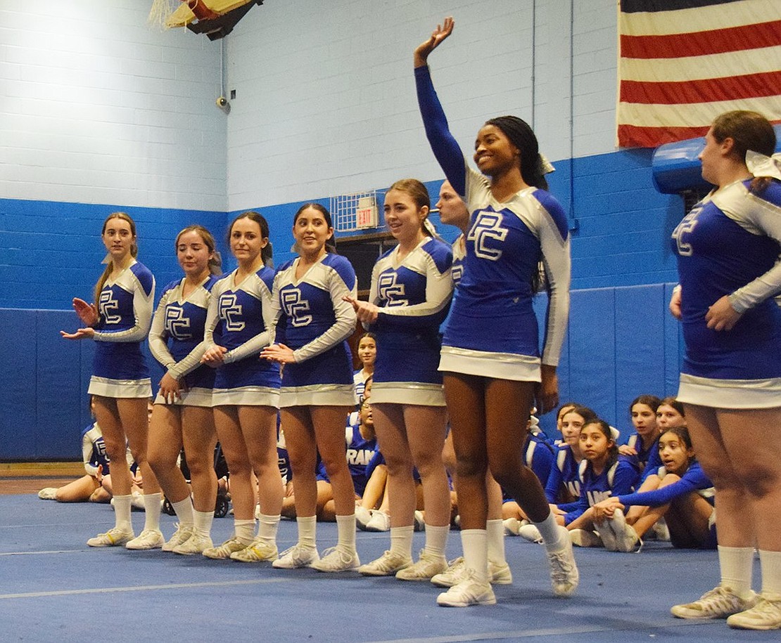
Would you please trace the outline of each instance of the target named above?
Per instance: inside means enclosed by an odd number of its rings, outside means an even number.
[[[98,297],[95,359],[87,393],[103,397],[152,396],[141,342],[152,323],[155,278],[134,261],[116,279],[106,279]]]

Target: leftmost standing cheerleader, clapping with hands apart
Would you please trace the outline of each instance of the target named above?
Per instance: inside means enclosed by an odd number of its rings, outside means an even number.
[[[73,300],[73,308],[86,327],[61,331],[66,339],[94,339],[95,359],[87,391],[95,400],[95,419],[103,432],[105,451],[112,462],[115,526],[90,538],[91,547],[125,545],[150,549],[163,544],[160,532],[160,488],[147,462],[149,421],[147,403],[152,382],[141,353],[152,323],[155,278],[136,261],[136,224],[124,212],[103,222],[102,240],[109,251],[108,264],[95,286],[95,304]],[[135,538],[130,522],[132,476],[125,466],[127,446],[144,478],[144,531]]]

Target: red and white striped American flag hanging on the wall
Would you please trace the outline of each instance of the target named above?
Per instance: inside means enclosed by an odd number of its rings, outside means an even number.
[[[704,136],[733,109],[781,122],[781,0],[620,0],[620,147]]]

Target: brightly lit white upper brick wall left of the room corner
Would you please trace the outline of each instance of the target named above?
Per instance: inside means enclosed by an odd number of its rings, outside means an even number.
[[[226,208],[219,42],[151,4],[0,2],[0,196]]]

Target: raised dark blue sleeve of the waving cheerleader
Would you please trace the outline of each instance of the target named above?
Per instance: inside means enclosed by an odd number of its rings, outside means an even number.
[[[428,66],[415,67],[415,87],[418,92],[418,106],[426,128],[426,138],[437,163],[448,177],[453,189],[462,196],[466,191],[464,155],[448,128],[448,119],[434,91]]]

